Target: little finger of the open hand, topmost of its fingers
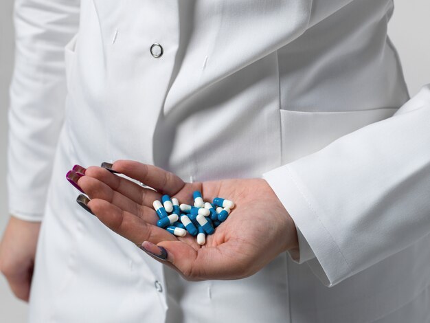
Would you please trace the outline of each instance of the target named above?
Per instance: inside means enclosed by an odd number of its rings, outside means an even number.
[[[138,161],[117,160],[113,163],[112,169],[137,179],[162,194],[174,195],[185,185],[183,180],[172,172]]]

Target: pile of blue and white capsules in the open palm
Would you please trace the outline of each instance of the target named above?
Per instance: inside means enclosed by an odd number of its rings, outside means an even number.
[[[152,205],[159,216],[157,226],[164,227],[175,236],[185,236],[187,232],[197,236],[197,243],[206,243],[206,234],[213,234],[215,227],[223,223],[234,208],[234,202],[216,197],[212,203],[203,201],[201,192],[192,193],[194,206],[179,205],[176,198],[168,195],[161,197],[161,202],[155,200]]]

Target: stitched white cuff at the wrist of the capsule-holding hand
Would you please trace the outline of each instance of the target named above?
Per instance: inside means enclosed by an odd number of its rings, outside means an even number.
[[[288,210],[297,227],[299,239],[302,235],[299,248],[304,249],[293,260],[296,263],[307,261],[313,273],[328,287],[350,276],[350,265],[322,222],[324,217],[318,216],[321,208],[318,208],[310,192],[306,191],[306,186],[295,176],[291,166],[287,164],[275,168],[264,173],[263,177]],[[297,251],[291,256],[297,256]]]

